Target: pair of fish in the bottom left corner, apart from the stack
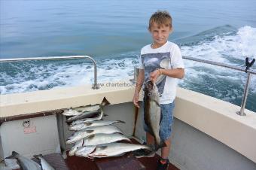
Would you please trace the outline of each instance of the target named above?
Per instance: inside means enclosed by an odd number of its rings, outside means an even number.
[[[20,165],[21,170],[55,170],[42,155],[35,155],[38,162],[33,161],[32,159],[20,156],[19,153],[13,151],[11,156],[6,157],[5,159],[17,159],[18,165]]]

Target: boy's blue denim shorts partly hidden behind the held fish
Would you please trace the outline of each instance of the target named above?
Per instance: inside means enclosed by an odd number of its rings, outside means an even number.
[[[143,102],[144,106],[144,102]],[[143,107],[144,108],[144,107]],[[173,123],[173,108],[174,108],[174,102],[169,104],[161,104],[161,121],[160,121],[160,138],[163,141],[166,141],[170,138],[171,132],[172,132],[172,123]],[[144,130],[145,132],[149,132],[153,134],[148,126],[145,124],[144,121]]]

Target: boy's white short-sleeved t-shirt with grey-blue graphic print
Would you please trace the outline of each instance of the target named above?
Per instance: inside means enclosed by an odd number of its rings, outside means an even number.
[[[150,73],[157,68],[184,68],[181,50],[177,44],[167,41],[159,48],[151,48],[151,44],[142,48],[139,69],[145,70],[145,81],[149,80]],[[166,76],[157,84],[160,104],[169,104],[174,101],[177,83],[177,78]]]

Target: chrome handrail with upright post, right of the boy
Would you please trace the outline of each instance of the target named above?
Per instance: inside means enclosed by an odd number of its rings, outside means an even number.
[[[246,83],[245,83],[245,90],[244,90],[244,93],[243,93],[243,97],[242,97],[242,104],[241,104],[241,108],[240,108],[240,111],[237,111],[236,114],[240,115],[240,116],[245,116],[245,105],[246,105],[246,100],[247,100],[247,96],[248,96],[248,88],[249,88],[249,83],[250,83],[250,80],[251,80],[251,74],[256,74],[256,71],[254,70],[246,70],[245,71],[245,68],[239,68],[239,67],[236,67],[236,66],[233,66],[233,65],[227,65],[227,64],[223,64],[221,62],[212,62],[212,61],[209,61],[209,60],[206,60],[206,59],[196,59],[194,57],[190,57],[190,56],[182,56],[183,59],[188,59],[188,60],[192,60],[192,61],[195,61],[195,62],[203,62],[203,63],[206,63],[206,64],[210,64],[210,65],[217,65],[217,66],[220,66],[220,67],[224,67],[224,68],[231,68],[233,70],[237,70],[237,71],[242,71],[242,72],[245,72],[248,74],[247,76],[247,80],[246,80]]]

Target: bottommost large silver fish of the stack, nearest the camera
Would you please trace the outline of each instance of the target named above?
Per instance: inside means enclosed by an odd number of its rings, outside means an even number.
[[[101,158],[101,157],[111,157],[111,156],[122,156],[124,153],[134,151],[134,150],[151,150],[152,148],[148,145],[142,144],[124,144],[124,143],[111,143],[111,144],[101,144],[96,147],[92,153],[87,154],[90,158]]]

